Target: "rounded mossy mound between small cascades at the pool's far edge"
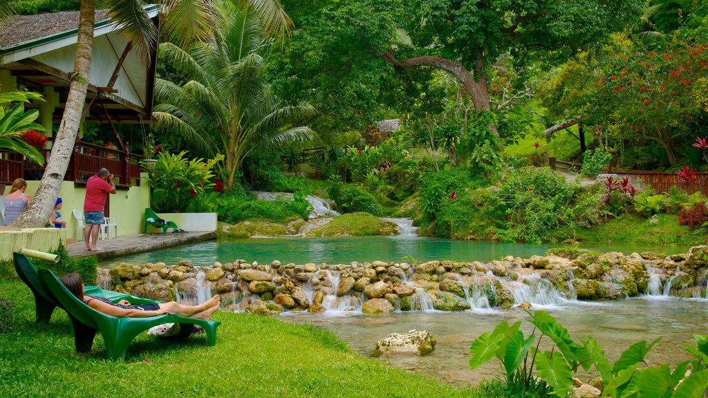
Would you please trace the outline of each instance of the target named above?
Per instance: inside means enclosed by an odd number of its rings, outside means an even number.
[[[367,237],[397,234],[396,224],[383,221],[367,212],[356,212],[334,217],[331,222],[312,229],[308,237]]]

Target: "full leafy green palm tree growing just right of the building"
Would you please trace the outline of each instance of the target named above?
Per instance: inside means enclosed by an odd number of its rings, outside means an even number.
[[[156,79],[153,116],[158,131],[181,135],[202,156],[224,154],[227,185],[241,161],[258,146],[309,140],[300,125],[316,111],[307,103],[283,106],[263,79],[261,18],[249,4],[215,2],[212,40],[178,47],[160,45],[161,57],[182,71],[182,86]]]

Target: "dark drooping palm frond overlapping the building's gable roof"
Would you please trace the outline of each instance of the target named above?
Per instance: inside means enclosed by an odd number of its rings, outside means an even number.
[[[157,46],[157,28],[142,8],[139,0],[103,0],[103,6],[110,9],[110,21],[120,25],[121,33],[127,37],[138,52],[149,59]]]

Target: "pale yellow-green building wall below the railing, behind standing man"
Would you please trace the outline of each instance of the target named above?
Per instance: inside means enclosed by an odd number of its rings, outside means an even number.
[[[39,181],[27,181],[25,193],[34,195],[39,187]],[[10,186],[7,186],[4,195],[10,193]],[[59,197],[62,198],[62,220],[67,222],[67,239],[76,239],[77,223],[72,214],[76,209],[84,213],[84,197],[86,189],[84,187],[74,187],[73,181],[63,181],[62,190]],[[141,175],[141,186],[132,186],[128,190],[118,190],[115,195],[110,195],[108,200],[108,215],[115,219],[118,224],[118,236],[126,234],[141,234],[145,207],[150,206],[150,188],[147,183],[147,174]],[[50,215],[47,214],[47,222]],[[71,242],[72,240],[69,240]]]

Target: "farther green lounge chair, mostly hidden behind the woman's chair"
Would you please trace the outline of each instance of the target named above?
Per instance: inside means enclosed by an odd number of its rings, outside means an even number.
[[[25,285],[30,288],[35,296],[35,319],[37,323],[49,322],[54,309],[59,303],[53,300],[52,295],[45,291],[45,288],[40,282],[37,275],[37,268],[30,259],[22,253],[15,252],[13,254],[15,263],[15,271]],[[154,304],[156,301],[142,297],[126,295],[124,293],[113,292],[111,290],[103,290],[96,286],[86,286],[84,288],[86,295],[106,297],[113,302],[120,300],[128,300],[131,304]]]

